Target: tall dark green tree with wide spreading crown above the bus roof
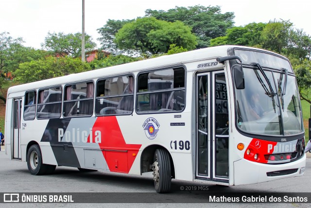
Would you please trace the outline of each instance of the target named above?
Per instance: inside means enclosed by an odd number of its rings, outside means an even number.
[[[176,6],[168,11],[147,9],[145,14],[146,17],[155,17],[169,22],[179,20],[190,26],[191,32],[197,37],[197,49],[208,47],[212,38],[225,36],[226,30],[234,24],[234,13],[222,14],[220,6],[195,5],[187,8]]]

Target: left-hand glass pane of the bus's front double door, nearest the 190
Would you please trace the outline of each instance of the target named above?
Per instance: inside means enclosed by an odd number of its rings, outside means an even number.
[[[208,85],[207,75],[198,76],[198,175],[208,176]]]

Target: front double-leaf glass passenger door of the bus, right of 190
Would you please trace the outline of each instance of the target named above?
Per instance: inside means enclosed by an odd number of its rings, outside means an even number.
[[[224,71],[196,76],[196,178],[229,183],[229,118]]]

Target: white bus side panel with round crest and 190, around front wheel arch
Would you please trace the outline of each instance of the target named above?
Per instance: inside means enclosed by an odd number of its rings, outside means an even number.
[[[189,104],[189,108],[191,105]],[[174,116],[175,115],[175,116]],[[178,115],[178,116],[176,116]],[[133,158],[129,162],[129,173],[140,174],[140,158],[142,151],[151,145],[164,147],[173,159],[175,178],[193,180],[191,157],[191,114],[190,111],[179,113],[133,114],[133,116],[116,116],[126,144],[141,144],[138,155],[128,154]],[[156,136],[151,137],[145,128],[152,123]],[[154,135],[154,134],[153,134]],[[186,145],[187,144],[187,145]],[[150,171],[152,171],[150,169]]]

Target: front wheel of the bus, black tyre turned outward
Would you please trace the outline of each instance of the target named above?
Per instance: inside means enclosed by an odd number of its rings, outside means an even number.
[[[163,149],[156,149],[154,155],[154,184],[158,193],[167,193],[171,189],[172,170],[170,155]]]

